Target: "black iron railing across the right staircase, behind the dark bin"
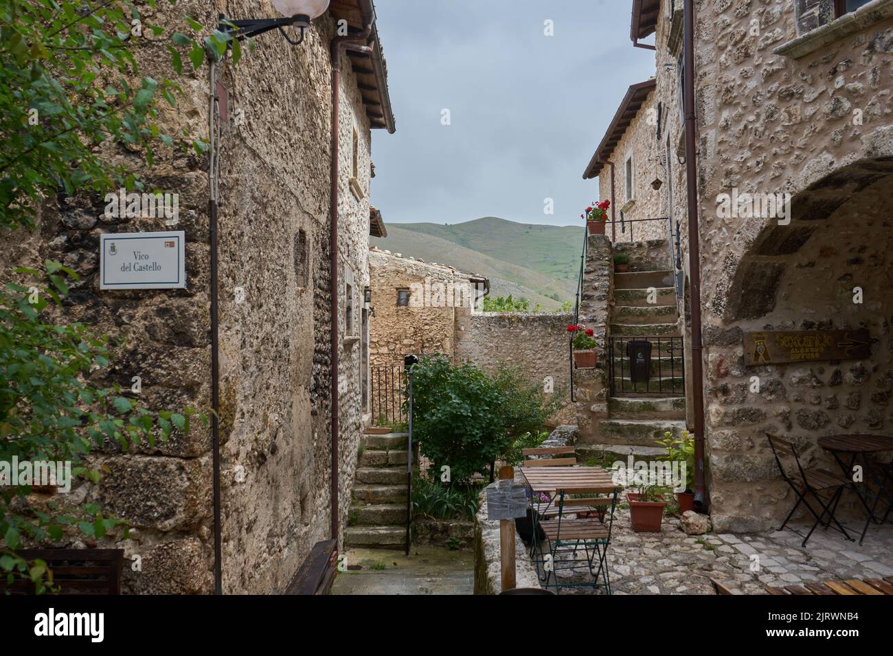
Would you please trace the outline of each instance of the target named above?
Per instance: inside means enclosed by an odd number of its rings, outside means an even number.
[[[651,345],[647,373],[631,358],[631,342]],[[608,339],[608,379],[611,395],[685,395],[685,356],[681,337],[624,336]],[[643,376],[644,374],[644,376]],[[644,378],[644,379],[643,379]]]

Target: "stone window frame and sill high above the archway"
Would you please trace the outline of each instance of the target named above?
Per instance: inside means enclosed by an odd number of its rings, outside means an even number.
[[[796,0],[797,37],[776,47],[774,54],[799,59],[855,32],[893,17],[893,0],[870,0],[839,15],[836,0]]]

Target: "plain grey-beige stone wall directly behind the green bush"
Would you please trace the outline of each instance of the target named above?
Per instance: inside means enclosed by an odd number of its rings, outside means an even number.
[[[567,327],[571,313],[526,314],[483,312],[475,314],[456,333],[456,357],[495,370],[500,362],[522,366],[532,382],[551,383],[566,401],[551,419],[557,426],[574,417],[570,403],[570,368]]]

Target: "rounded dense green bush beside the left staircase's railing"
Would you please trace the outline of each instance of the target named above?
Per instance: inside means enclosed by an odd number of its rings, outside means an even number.
[[[472,363],[426,358],[413,368],[413,439],[452,482],[466,483],[503,458],[525,433],[538,433],[561,405],[521,370],[500,366],[488,374]],[[408,405],[408,402],[407,402]]]

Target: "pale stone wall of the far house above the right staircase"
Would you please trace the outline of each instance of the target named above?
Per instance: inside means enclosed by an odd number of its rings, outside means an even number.
[[[644,221],[663,216],[661,212],[662,192],[655,191],[651,183],[662,179],[663,166],[660,161],[661,149],[657,142],[657,95],[648,94],[645,103],[639,108],[635,118],[614,147],[611,161],[614,164],[614,220],[637,220],[636,223],[618,223],[617,242],[664,239],[667,227],[662,221]],[[626,160],[632,155],[632,200],[626,199]],[[598,189],[601,200],[611,198],[611,167],[605,166],[598,176]],[[605,232],[612,235],[611,226]]]

